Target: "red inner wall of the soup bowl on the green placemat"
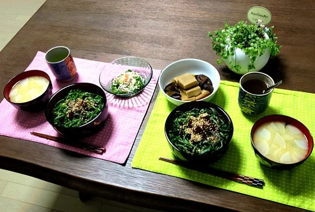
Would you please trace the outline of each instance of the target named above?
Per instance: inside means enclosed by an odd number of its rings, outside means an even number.
[[[304,135],[306,136],[306,139],[307,139],[308,144],[309,144],[309,150],[308,150],[308,153],[305,156],[305,158],[308,158],[311,155],[311,153],[313,151],[313,147],[314,147],[314,140],[313,140],[311,132],[307,129],[307,127],[304,124],[302,124],[298,120],[296,120],[292,117],[286,116],[286,115],[268,115],[268,116],[265,116],[265,117],[259,119],[258,121],[256,121],[256,123],[252,127],[251,138],[254,135],[254,132],[256,131],[256,129],[260,125],[262,125],[266,122],[270,122],[270,121],[283,121],[283,122],[289,123],[289,124],[297,127],[299,130],[301,130],[302,133],[304,133]],[[252,145],[255,146],[253,143],[252,143]]]

